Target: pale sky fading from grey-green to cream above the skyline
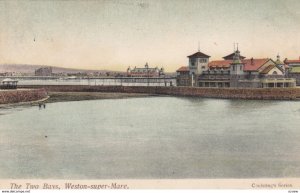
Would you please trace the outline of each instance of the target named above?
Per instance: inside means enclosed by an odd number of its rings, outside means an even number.
[[[0,64],[125,71],[247,58],[298,59],[299,0],[0,1]]]

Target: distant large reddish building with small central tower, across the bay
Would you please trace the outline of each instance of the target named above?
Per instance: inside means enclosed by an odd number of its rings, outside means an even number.
[[[127,77],[160,77],[164,75],[163,68],[150,68],[148,63],[145,64],[144,68],[134,67],[131,69],[129,66],[127,69]]]

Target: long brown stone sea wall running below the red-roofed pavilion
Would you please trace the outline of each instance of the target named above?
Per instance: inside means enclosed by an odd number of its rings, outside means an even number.
[[[28,87],[28,86],[27,86]],[[299,88],[199,88],[199,87],[147,87],[147,86],[35,86],[52,92],[125,92],[175,96],[194,96],[225,99],[296,100]]]

